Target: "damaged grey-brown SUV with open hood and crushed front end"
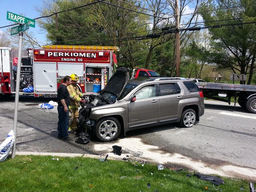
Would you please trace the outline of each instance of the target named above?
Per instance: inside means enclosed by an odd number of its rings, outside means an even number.
[[[185,78],[137,78],[119,67],[99,96],[90,95],[79,111],[80,127],[100,141],[120,132],[179,122],[191,127],[204,114],[204,96]]]

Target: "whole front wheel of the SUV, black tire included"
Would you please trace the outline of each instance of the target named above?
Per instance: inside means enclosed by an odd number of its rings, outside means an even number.
[[[95,136],[103,142],[113,141],[120,135],[121,124],[114,117],[104,117],[95,126]]]

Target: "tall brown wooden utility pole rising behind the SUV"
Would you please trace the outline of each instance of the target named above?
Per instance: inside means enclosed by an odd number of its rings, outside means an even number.
[[[179,0],[175,0],[175,15],[176,15],[176,77],[180,76],[180,8]]]

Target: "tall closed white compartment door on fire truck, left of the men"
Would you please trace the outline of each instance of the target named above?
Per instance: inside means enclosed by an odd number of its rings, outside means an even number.
[[[34,91],[57,91],[56,63],[34,62]]]

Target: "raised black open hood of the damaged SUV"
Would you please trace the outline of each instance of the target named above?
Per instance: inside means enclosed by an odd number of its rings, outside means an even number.
[[[102,90],[102,94],[110,92],[115,94],[118,98],[124,89],[126,82],[129,79],[130,70],[126,67],[118,67],[116,72],[112,75],[105,88]]]

